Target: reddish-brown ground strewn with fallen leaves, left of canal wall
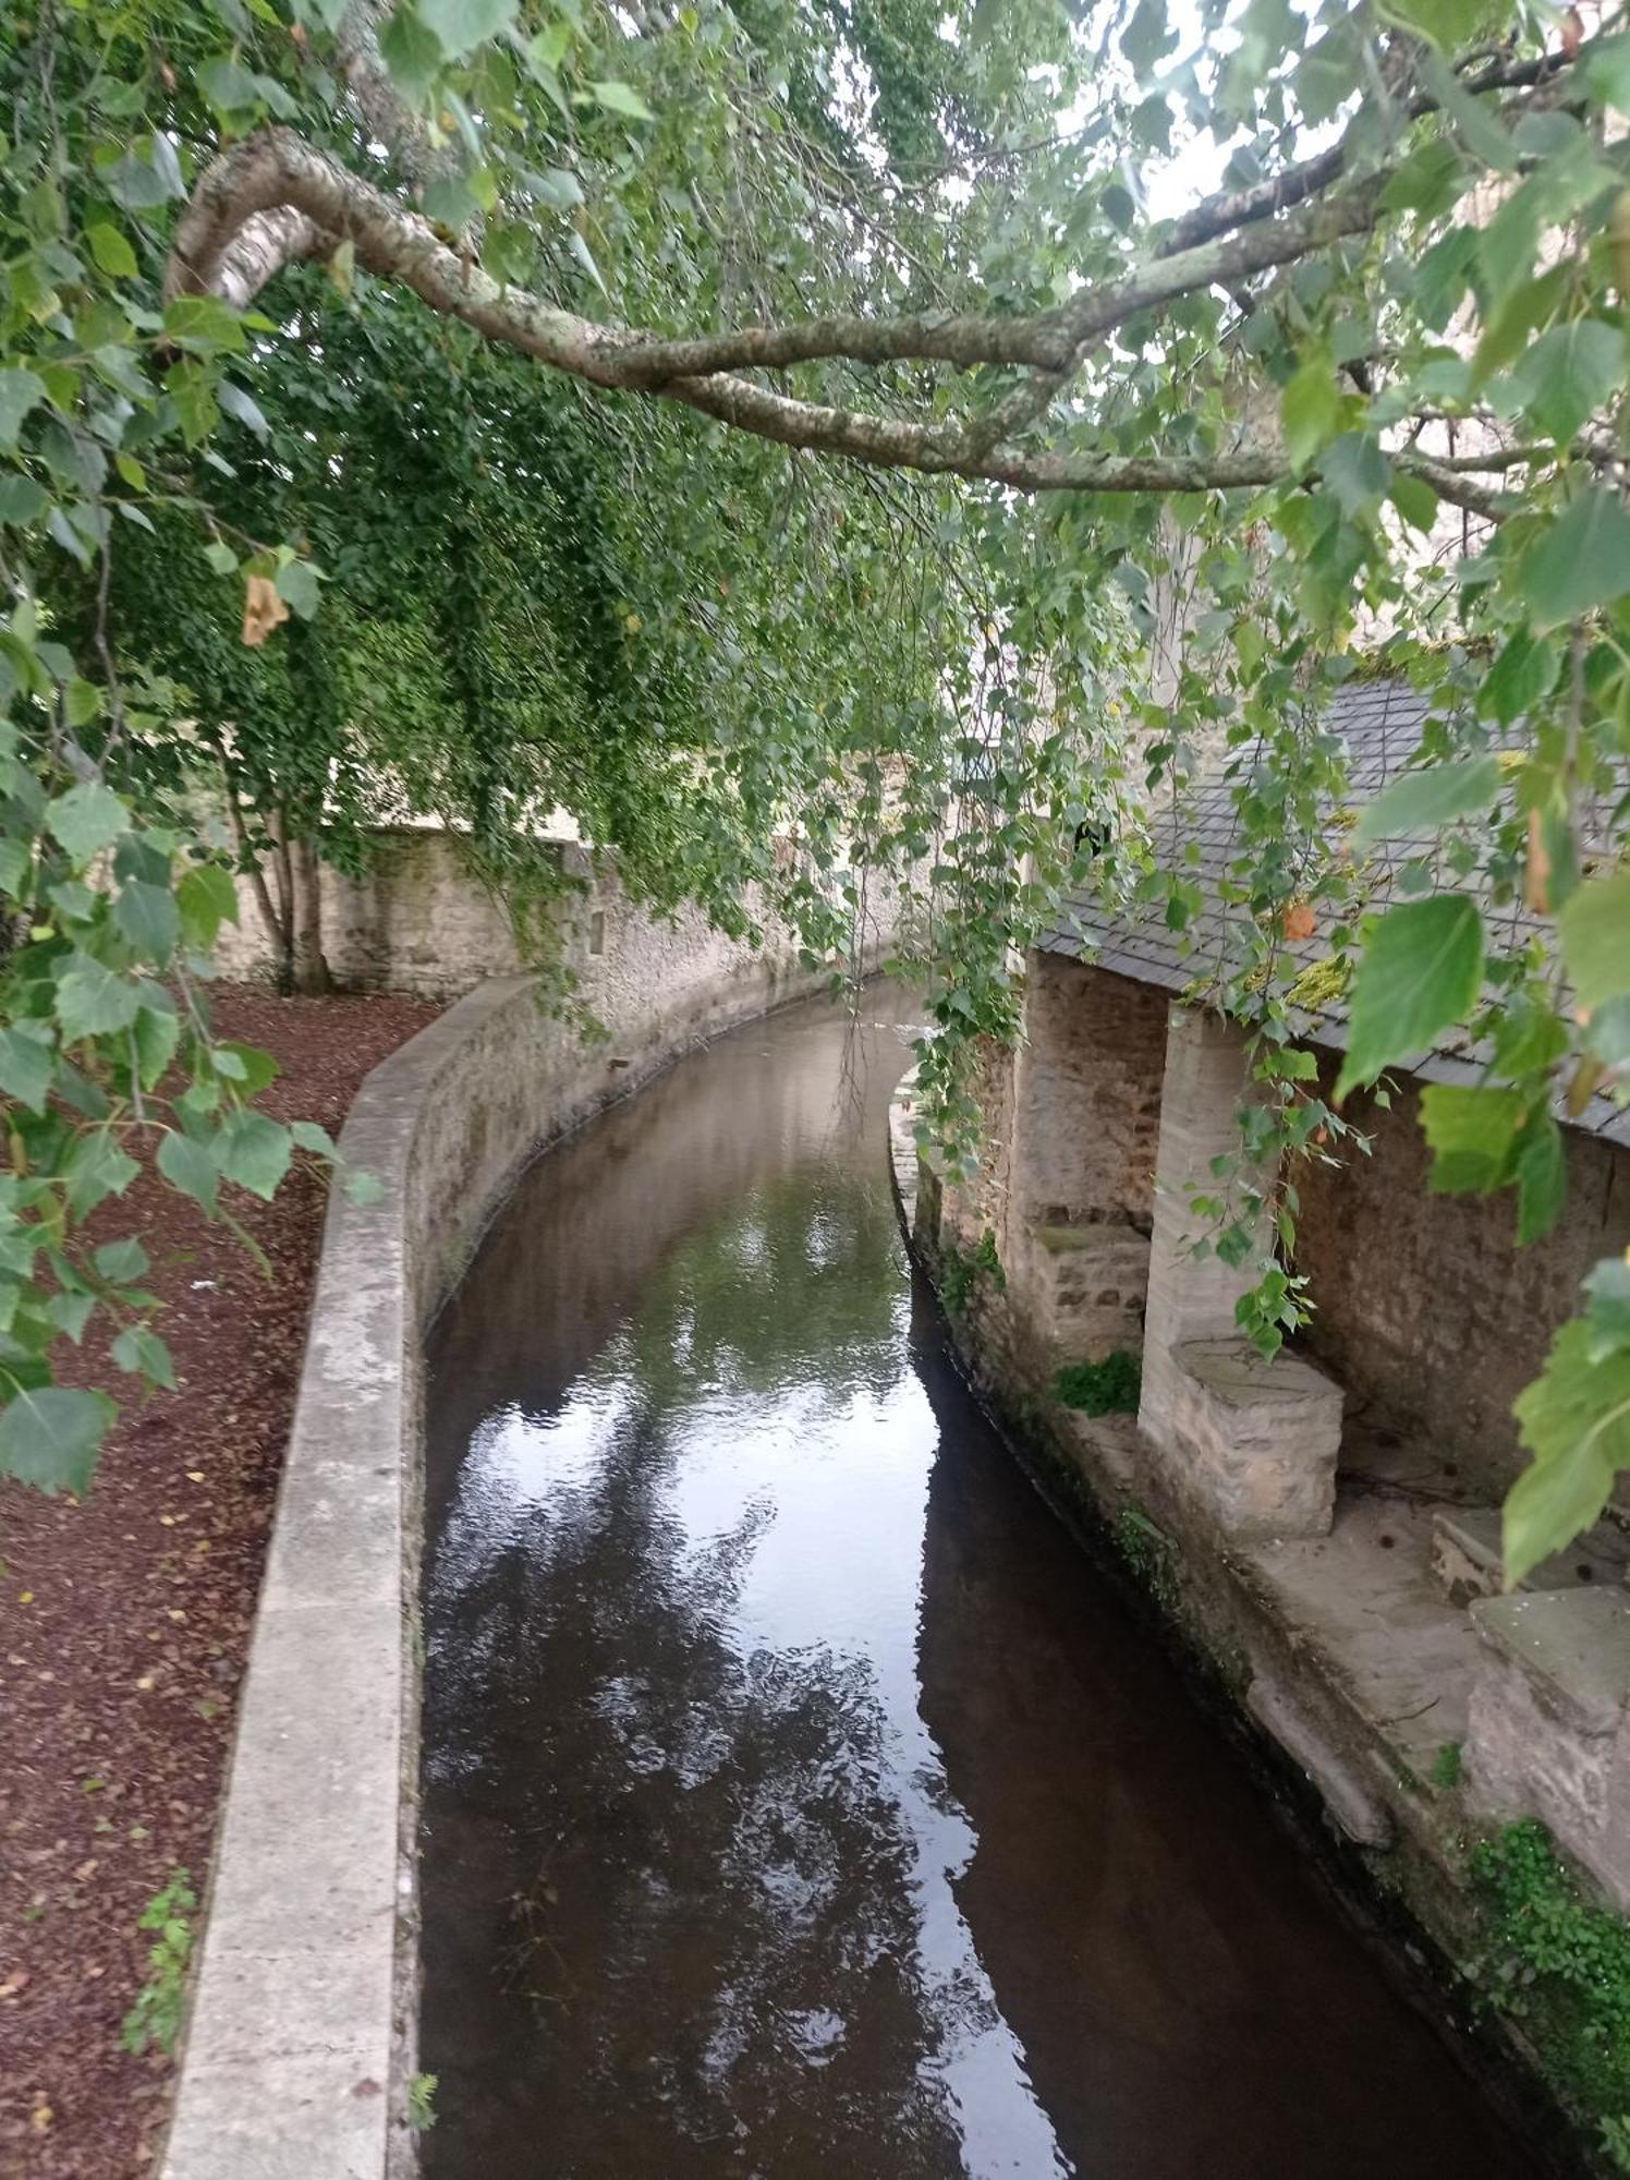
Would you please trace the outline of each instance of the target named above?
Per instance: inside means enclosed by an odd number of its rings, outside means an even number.
[[[266,1110],[333,1131],[434,1014],[216,988],[220,1031],[283,1066]],[[0,1485],[0,2180],[150,2173],[168,2110],[170,2062],[120,2051],[135,1925],[209,1862],[325,1210],[314,1173],[231,1195],[270,1280],[161,1186],[105,1206],[153,1256],[181,1391],[124,1408],[85,1504]],[[92,1352],[74,1373],[118,1391]]]

